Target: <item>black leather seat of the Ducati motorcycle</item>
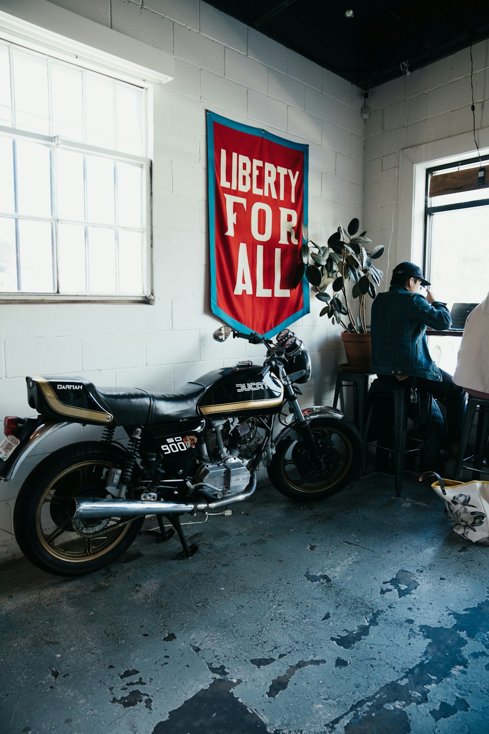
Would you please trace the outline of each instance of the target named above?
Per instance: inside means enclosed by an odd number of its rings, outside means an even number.
[[[205,386],[187,382],[174,393],[148,393],[139,388],[96,388],[96,393],[118,424],[153,426],[196,418]]]

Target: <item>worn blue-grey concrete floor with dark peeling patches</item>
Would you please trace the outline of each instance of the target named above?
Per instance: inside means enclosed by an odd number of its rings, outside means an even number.
[[[429,486],[232,509],[188,561],[145,531],[76,580],[0,567],[2,734],[488,732],[489,548]]]

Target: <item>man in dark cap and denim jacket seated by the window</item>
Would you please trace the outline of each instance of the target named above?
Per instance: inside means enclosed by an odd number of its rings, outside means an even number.
[[[438,331],[452,325],[445,303],[437,301],[421,268],[404,262],[392,272],[389,291],[372,302],[372,372],[382,382],[405,381],[411,389],[431,393],[446,404],[450,454],[455,455],[462,432],[465,392],[451,375],[435,365],[428,349],[426,328]]]

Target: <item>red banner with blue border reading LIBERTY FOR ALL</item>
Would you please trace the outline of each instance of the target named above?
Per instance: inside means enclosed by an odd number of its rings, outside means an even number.
[[[235,329],[272,336],[309,313],[293,288],[307,225],[306,145],[207,112],[211,305]]]

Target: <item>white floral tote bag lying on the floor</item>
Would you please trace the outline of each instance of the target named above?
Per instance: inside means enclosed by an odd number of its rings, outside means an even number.
[[[489,545],[489,482],[454,482],[434,471],[422,473],[419,482],[428,476],[436,477],[431,487],[444,500],[452,530],[466,540]]]

